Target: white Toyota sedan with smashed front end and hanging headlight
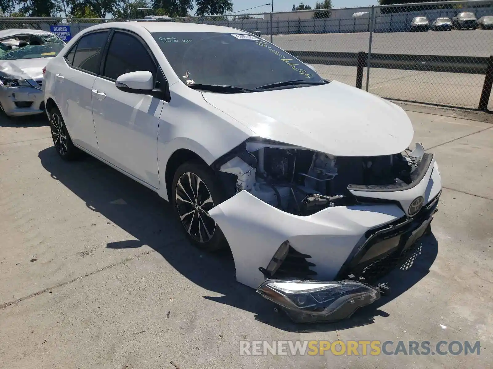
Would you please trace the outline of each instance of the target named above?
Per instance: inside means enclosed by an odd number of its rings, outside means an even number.
[[[48,63],[55,149],[169,200],[190,242],[299,322],[371,304],[430,230],[433,154],[398,106],[320,77],[245,31],[107,23]]]

